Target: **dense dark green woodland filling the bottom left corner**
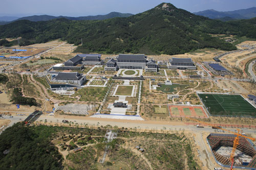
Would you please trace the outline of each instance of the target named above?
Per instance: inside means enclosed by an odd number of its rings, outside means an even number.
[[[0,135],[1,169],[62,169],[62,156],[50,141],[50,128],[14,124]]]

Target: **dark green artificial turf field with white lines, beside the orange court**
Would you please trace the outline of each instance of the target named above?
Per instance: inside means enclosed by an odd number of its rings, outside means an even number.
[[[211,115],[255,116],[256,109],[241,95],[198,94]]]

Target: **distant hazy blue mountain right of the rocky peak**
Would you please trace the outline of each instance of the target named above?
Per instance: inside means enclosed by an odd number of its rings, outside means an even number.
[[[211,9],[211,10],[205,10],[200,12],[194,12],[194,14],[205,16],[211,19],[221,19],[225,17],[229,17],[228,20],[230,20],[230,18],[232,18],[233,20],[250,19],[250,18],[256,17],[256,7],[236,10],[236,11],[227,11],[227,12],[219,12]]]

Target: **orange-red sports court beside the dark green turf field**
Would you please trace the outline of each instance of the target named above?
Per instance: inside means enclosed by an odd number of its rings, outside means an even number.
[[[208,118],[202,106],[168,105],[172,117]]]

